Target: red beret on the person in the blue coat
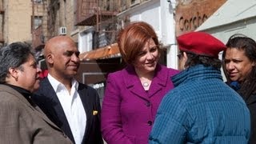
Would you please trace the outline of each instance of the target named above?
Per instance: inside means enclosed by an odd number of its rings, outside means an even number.
[[[226,50],[223,42],[205,32],[190,32],[177,38],[181,51],[218,58],[218,53]]]

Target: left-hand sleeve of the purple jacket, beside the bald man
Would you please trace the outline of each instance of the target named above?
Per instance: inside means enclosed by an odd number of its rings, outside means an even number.
[[[106,81],[106,91],[102,102],[102,135],[108,144],[132,144],[122,130],[121,92],[113,74]]]

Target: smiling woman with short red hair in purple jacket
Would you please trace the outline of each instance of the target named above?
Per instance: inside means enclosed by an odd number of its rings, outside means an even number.
[[[157,34],[146,22],[134,22],[118,35],[127,66],[108,75],[102,102],[102,135],[108,144],[146,144],[163,96],[178,74],[158,63]]]

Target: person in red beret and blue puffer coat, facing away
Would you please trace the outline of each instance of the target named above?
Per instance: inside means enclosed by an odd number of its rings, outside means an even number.
[[[153,143],[247,143],[250,112],[222,80],[218,53],[226,46],[204,32],[177,38],[181,73],[162,99],[150,133]]]

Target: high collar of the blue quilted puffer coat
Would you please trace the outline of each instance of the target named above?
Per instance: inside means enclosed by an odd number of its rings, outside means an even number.
[[[190,66],[186,70],[183,70],[181,73],[171,77],[171,80],[174,82],[174,86],[178,86],[188,80],[206,78],[222,79],[221,70],[218,70],[212,66]]]

